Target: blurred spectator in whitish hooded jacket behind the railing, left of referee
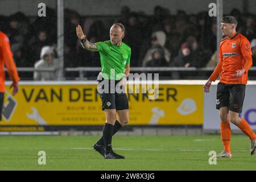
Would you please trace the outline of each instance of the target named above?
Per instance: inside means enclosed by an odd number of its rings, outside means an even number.
[[[60,61],[58,59],[54,59],[53,53],[53,48],[50,46],[44,46],[41,49],[40,60],[35,63],[35,69],[53,68],[55,71],[35,71],[34,80],[58,80],[61,77]]]

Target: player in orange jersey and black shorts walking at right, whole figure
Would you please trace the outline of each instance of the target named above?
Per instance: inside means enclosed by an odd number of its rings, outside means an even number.
[[[221,73],[217,85],[216,109],[220,110],[220,131],[224,151],[217,155],[220,158],[231,158],[230,138],[232,122],[246,134],[250,140],[250,154],[255,154],[256,135],[245,119],[239,117],[245,97],[248,70],[253,64],[250,42],[245,36],[236,32],[237,18],[225,16],[221,20],[221,32],[224,39],[220,42],[220,61],[209,80],[204,84],[208,93],[212,81]]]

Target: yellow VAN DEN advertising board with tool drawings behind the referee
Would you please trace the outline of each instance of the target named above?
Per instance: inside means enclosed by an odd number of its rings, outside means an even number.
[[[158,98],[127,93],[129,125],[203,125],[201,85],[159,84]],[[104,125],[105,114],[97,94],[97,82],[55,82],[20,84],[11,96],[6,85],[0,126],[75,126]]]

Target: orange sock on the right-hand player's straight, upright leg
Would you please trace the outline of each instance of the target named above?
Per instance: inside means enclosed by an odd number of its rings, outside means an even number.
[[[230,152],[230,138],[231,138],[231,129],[230,129],[230,123],[227,122],[221,122],[221,139],[222,144],[224,146],[224,150],[227,152]]]

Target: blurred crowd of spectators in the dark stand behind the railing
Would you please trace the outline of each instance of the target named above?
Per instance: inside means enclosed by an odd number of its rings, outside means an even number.
[[[35,67],[42,59],[44,46],[55,48],[57,59],[57,14],[47,7],[46,17],[27,17],[23,13],[0,15],[0,30],[10,39],[17,67]],[[238,19],[237,32],[251,42],[254,66],[256,63],[256,16],[233,9],[229,15]],[[100,67],[100,55],[82,49],[76,36],[81,24],[90,42],[109,39],[112,23],[125,28],[123,42],[131,47],[131,67],[214,67],[217,64],[216,17],[208,12],[188,15],[183,10],[156,6],[153,15],[133,12],[123,6],[119,16],[82,17],[74,10],[64,10],[64,68]],[[179,78],[179,75],[173,75]]]

